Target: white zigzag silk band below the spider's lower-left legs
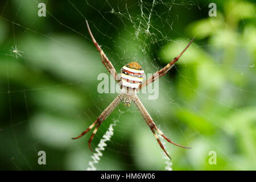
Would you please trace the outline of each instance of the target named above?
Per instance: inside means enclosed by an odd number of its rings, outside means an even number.
[[[111,137],[114,134],[114,129],[113,127],[116,125],[118,120],[115,120],[113,124],[109,126],[108,131],[102,136],[102,139],[100,140],[100,143],[98,143],[97,148],[95,149],[95,152],[91,156],[93,160],[89,162],[89,167],[87,168],[87,171],[96,171],[97,168],[94,167],[94,164],[97,164],[101,160],[102,152],[105,150],[105,147],[107,146],[106,142],[111,139]]]

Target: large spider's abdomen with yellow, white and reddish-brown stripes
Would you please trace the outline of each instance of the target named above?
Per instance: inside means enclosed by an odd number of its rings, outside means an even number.
[[[144,71],[137,62],[126,64],[121,69],[122,87],[127,89],[137,89],[143,81]]]

